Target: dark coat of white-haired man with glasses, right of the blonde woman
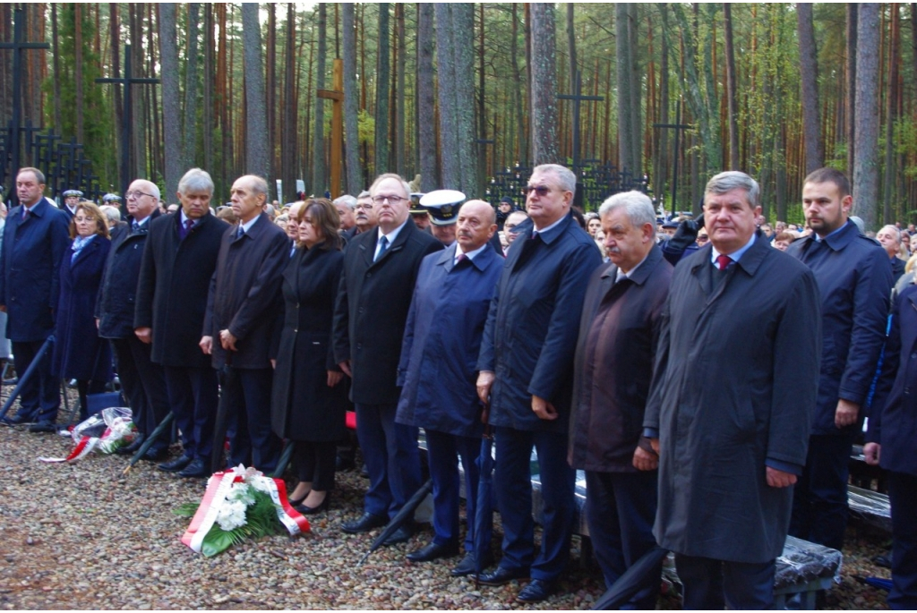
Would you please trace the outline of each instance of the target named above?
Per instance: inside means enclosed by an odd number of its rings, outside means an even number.
[[[134,219],[112,230],[112,246],[102,273],[102,285],[95,301],[95,317],[99,320],[99,336],[131,338],[134,335],[134,311],[137,306],[137,279],[147,244],[149,225],[159,218],[159,210],[149,215],[146,224],[133,232]],[[200,340],[200,339],[198,339]]]

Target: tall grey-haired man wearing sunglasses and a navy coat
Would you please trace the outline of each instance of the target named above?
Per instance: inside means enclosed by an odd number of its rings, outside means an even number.
[[[573,354],[591,272],[602,264],[591,236],[570,214],[576,177],[557,164],[536,167],[525,188],[533,230],[510,248],[491,303],[478,358],[478,396],[490,404],[500,458],[494,473],[503,518],[503,560],[481,583],[532,577],[516,599],[539,602],[557,588],[569,554],[574,510],[567,431]],[[534,554],[532,446],[545,502]],[[534,560],[533,560],[534,558]]]

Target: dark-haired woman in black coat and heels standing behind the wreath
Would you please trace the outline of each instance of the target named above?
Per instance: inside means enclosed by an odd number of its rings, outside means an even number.
[[[337,210],[306,201],[295,222],[299,247],[283,273],[284,322],[274,370],[274,432],[294,442],[299,483],[291,502],[304,514],[327,509],[337,441],[346,435],[343,374],[331,353],[337,284],[343,268]]]

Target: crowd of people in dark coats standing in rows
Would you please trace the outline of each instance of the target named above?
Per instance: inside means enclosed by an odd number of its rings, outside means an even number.
[[[7,424],[54,432],[61,378],[84,408],[114,357],[140,432],[126,453],[170,410],[182,454],[162,439],[144,457],[179,476],[209,475],[214,457],[222,467],[226,438],[230,465],[272,472],[291,441],[291,502],[311,515],[331,504],[352,403],[370,481],[344,531],[387,524],[421,487],[423,428],[434,536],[408,559],[462,554],[452,575],[521,580],[519,602],[545,600],[583,470],[606,584],[661,546],[685,608],[770,608],[788,534],[843,546],[847,463],[868,415],[867,462],[889,472],[889,604],[917,606],[913,226],[867,235],[837,170],[806,177],[802,228],[772,228],[737,171],[707,183],[702,220],[660,220],[641,192],[583,214],[574,173],[556,164],[533,170],[524,208],[414,193],[395,174],[290,206],[247,175],[213,207],[213,181],[192,169],[174,210],[133,181],[122,221],[79,192],[58,209],[44,189],[39,170],[19,171],[0,312],[17,373],[56,340]],[[496,566],[475,546],[485,432]],[[413,533],[408,520],[385,544]],[[627,606],[655,608],[659,573]]]

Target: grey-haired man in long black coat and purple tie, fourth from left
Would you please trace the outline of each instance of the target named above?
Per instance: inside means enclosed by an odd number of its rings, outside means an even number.
[[[180,213],[149,224],[137,286],[134,333],[152,344],[162,367],[169,403],[182,432],[182,455],[160,470],[179,476],[209,475],[217,404],[216,373],[201,351],[207,290],[226,223],[210,213],[214,181],[201,169],[178,182]],[[145,423],[144,429],[155,427]]]

